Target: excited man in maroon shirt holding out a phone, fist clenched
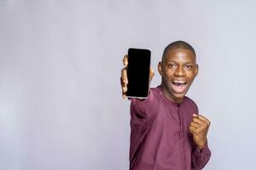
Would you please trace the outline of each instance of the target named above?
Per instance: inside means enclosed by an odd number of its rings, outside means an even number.
[[[123,97],[129,83],[124,58]],[[147,99],[131,99],[131,170],[199,170],[211,157],[210,121],[185,94],[198,73],[195,50],[183,41],[169,44],[158,64],[161,84]],[[150,69],[150,80],[154,71]]]

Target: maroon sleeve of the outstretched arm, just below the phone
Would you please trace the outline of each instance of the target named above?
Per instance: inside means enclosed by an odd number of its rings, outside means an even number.
[[[131,128],[142,131],[144,127],[154,120],[158,108],[157,99],[153,90],[147,99],[131,99]]]

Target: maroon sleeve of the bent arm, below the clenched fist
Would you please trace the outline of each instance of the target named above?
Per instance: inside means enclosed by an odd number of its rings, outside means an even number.
[[[192,153],[192,167],[194,170],[201,170],[203,167],[207,165],[207,162],[211,157],[211,150],[208,148],[208,144],[206,144],[203,150],[199,150],[198,147],[195,147],[195,150]]]

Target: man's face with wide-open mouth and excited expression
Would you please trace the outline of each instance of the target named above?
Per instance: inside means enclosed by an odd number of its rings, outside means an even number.
[[[174,102],[182,102],[198,72],[195,55],[187,49],[171,48],[158,69],[162,76],[163,94]]]

